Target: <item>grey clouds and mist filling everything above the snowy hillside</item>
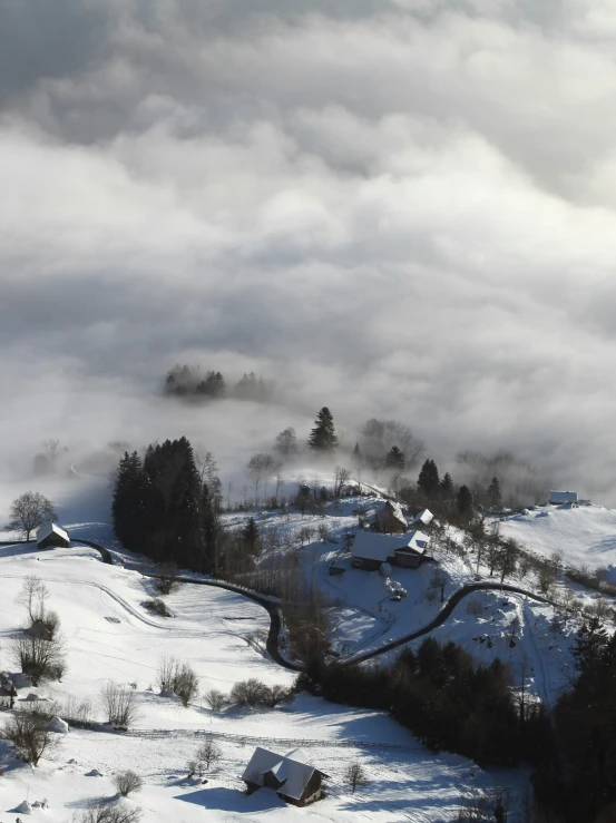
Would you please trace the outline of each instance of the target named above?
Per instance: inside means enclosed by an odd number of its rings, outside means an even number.
[[[615,37],[612,0],[2,0],[7,461],[231,459],[327,404],[616,503]],[[177,361],[292,409],[183,417]]]

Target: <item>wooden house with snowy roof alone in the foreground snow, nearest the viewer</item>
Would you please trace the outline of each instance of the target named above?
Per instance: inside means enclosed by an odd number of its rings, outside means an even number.
[[[242,780],[248,794],[263,787],[273,788],[287,803],[306,806],[322,797],[322,781],[327,776],[309,763],[307,754],[301,748],[280,755],[257,746]]]

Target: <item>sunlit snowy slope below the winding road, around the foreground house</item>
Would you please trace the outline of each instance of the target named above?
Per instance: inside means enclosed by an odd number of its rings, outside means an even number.
[[[150,581],[138,571],[104,565],[86,548],[45,552],[32,547],[0,548],[4,669],[11,669],[10,637],[22,621],[14,598],[23,578],[33,574],[45,580],[49,606],[60,616],[68,672],[60,684],[21,689],[19,699],[33,692],[59,702],[72,695],[97,703],[101,686],[113,679],[136,684],[139,717],[129,735],[72,729],[62,736],[53,760],[41,761],[36,770],[12,761],[8,744],[2,744],[1,762],[8,766],[0,778],[2,821],[17,820],[16,810],[26,798],[30,803],[47,798],[49,810],[35,814],[68,823],[88,798],[114,796],[111,776],[128,767],[138,771],[146,784],[129,803],[143,807],[144,821],[153,823],[300,817],[434,823],[450,820],[460,796],[475,787],[525,781],[524,774],[487,774],[465,758],[434,756],[383,714],[319,698],[301,696],[289,706],[263,713],[215,714],[199,702],[183,708],[174,698],[160,697],[156,669],[166,654],[190,662],[202,690],[228,692],[250,676],[284,684],[292,677],[244,639],[267,625],[258,606],[232,592],[185,585],[168,598],[176,616],[153,618],[141,606]],[[219,735],[224,752],[206,786],[186,777],[186,761],[198,744],[198,732]],[[331,775],[329,796],[305,810],[286,806],[268,790],[247,797],[239,775],[256,743],[281,753],[299,743],[306,745],[313,762]],[[354,795],[342,780],[351,761],[360,761],[371,780]],[[92,770],[101,776],[92,776]]]

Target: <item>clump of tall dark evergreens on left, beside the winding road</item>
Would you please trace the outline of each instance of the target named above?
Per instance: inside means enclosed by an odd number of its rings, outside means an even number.
[[[186,438],[121,458],[114,486],[114,529],[121,545],[196,571],[217,567],[216,499]]]

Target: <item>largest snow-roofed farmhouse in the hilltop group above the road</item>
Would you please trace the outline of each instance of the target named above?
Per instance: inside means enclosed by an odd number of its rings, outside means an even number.
[[[422,531],[400,536],[359,531],[351,549],[351,565],[365,571],[377,571],[383,564],[417,569],[426,557],[429,540]]]

